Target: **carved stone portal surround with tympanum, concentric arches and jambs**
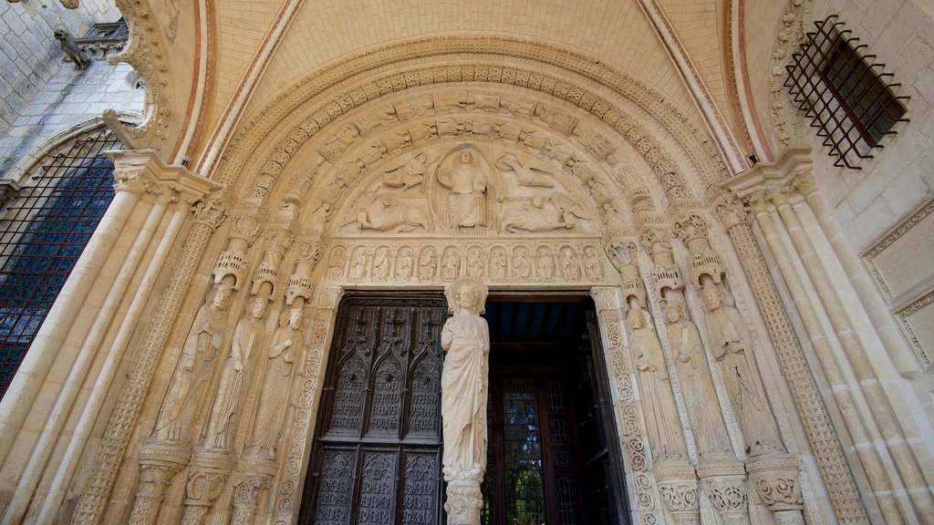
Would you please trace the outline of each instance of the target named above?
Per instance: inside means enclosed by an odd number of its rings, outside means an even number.
[[[506,49],[525,54],[504,60],[497,53]],[[475,54],[464,58],[458,54],[463,52]],[[406,54],[415,56],[397,62]],[[368,61],[375,66],[365,68]],[[229,403],[212,399],[210,392],[218,391],[212,389],[192,408],[213,420],[219,404],[233,407],[225,416],[230,434],[215,445],[205,446],[198,432],[177,439],[154,432],[164,413],[164,403],[156,404],[163,410],[156,406],[144,414],[143,437],[132,445],[140,450],[141,484],[131,520],[151,523],[166,488],[178,484],[172,479],[184,471],[187,495],[177,505],[186,517],[225,516],[233,504],[237,519],[261,512],[289,522],[298,508],[341,291],[439,288],[476,274],[494,287],[592,290],[618,396],[619,447],[635,488],[634,519],[696,520],[707,505],[727,520],[742,520],[748,516],[748,472],[756,501],[777,518],[799,521],[799,465],[787,450],[801,444],[780,434],[785,424],[771,415],[770,403],[784,402],[781,396],[766,399],[757,372],[764,370],[775,386],[771,360],[752,357],[754,349],[771,348],[770,335],[785,370],[797,375],[789,374],[796,402],[813,412],[805,419],[809,435],[827,433],[828,419],[822,406],[809,402],[817,399],[809,397],[813,379],[801,366],[800,348],[742,213],[711,190],[722,163],[709,140],[644,86],[608,77],[603,67],[578,67],[586,61],[527,42],[426,40],[374,52],[360,64],[355,77],[335,64],[284,92],[244,126],[216,172],[231,190],[202,207],[186,246],[200,255],[200,269],[196,258],[177,269],[178,286],[187,287],[196,274],[211,277],[186,292],[187,315],[180,319],[191,319],[223,290],[233,302],[217,308],[218,322],[239,326],[245,305],[262,302],[256,318],[268,319],[266,335],[260,335],[268,343],[277,314],[304,312],[305,349],[290,378],[290,408],[275,454],[270,460],[247,453],[255,412],[262,409],[256,387],[265,372],[262,361],[248,371],[250,381],[227,394]],[[458,165],[463,152],[470,152],[463,163],[469,168]],[[207,240],[221,206],[230,220]],[[206,246],[197,244],[205,240]],[[728,300],[714,305],[708,299],[704,308],[701,290]],[[667,315],[669,306],[676,315]],[[179,308],[161,312],[175,319]],[[705,326],[715,316],[729,319],[726,338]],[[179,364],[180,349],[195,333],[190,322],[179,325],[176,344],[163,355],[167,369],[176,372],[164,373],[153,392],[177,392],[174,377],[186,368]],[[167,341],[167,329],[160,329]],[[154,362],[163,345],[159,337],[149,340],[142,352]],[[231,343],[219,342],[216,349],[223,354]],[[695,352],[693,358],[685,348]],[[717,364],[728,348],[739,359]],[[705,379],[684,376],[683,355]],[[225,374],[222,358],[216,361],[208,367],[208,384],[219,384]],[[729,376],[737,366],[745,367],[746,383]],[[144,380],[128,391],[149,390]],[[733,395],[737,389],[755,403]],[[136,418],[141,407],[130,397],[116,419]],[[699,408],[714,408],[715,420],[702,422]],[[753,417],[767,422],[763,430],[748,424]],[[660,432],[672,426],[683,432]],[[116,431],[108,431],[108,439],[130,445],[129,435]],[[812,442],[820,447],[824,475],[845,471],[836,441]],[[94,475],[112,484],[116,466],[102,464]],[[101,512],[92,508],[101,497],[82,500],[88,516]],[[854,504],[846,490],[832,497],[835,508]],[[78,517],[81,511],[79,506]]]

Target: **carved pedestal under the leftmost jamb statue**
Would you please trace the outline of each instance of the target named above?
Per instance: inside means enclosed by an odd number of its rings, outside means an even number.
[[[139,490],[130,523],[133,525],[151,525],[159,514],[163,504],[165,490],[185,465],[188,464],[191,451],[177,444],[149,441],[139,452]]]

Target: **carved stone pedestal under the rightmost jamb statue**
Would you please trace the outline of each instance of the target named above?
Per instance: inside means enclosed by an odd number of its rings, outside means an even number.
[[[803,524],[798,476],[798,460],[789,455],[774,455],[746,461],[749,484],[756,490],[762,503],[775,514],[782,524]]]

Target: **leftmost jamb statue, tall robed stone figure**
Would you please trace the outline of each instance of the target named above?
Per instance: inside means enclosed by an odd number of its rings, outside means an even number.
[[[223,280],[198,309],[191,323],[191,332],[185,339],[172,385],[156,419],[153,433],[156,439],[187,442],[191,438],[195,412],[204,397],[214,359],[223,344],[223,327],[232,294],[231,283]]]

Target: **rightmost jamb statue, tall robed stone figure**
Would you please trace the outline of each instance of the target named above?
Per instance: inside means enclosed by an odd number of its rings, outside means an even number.
[[[707,305],[707,336],[714,359],[720,362],[729,402],[743,429],[746,453],[751,456],[781,451],[777,429],[768,404],[758,387],[756,363],[752,356],[752,337],[739,310],[725,304],[727,291],[708,282],[701,289]]]

